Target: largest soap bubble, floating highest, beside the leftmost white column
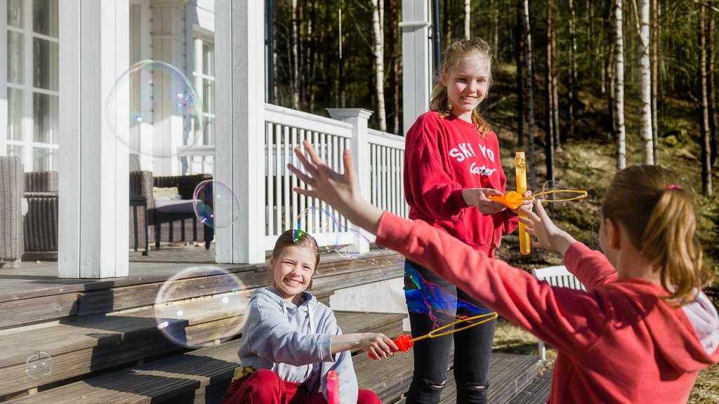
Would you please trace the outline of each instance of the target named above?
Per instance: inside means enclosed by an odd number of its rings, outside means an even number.
[[[203,134],[202,102],[193,83],[158,60],[142,60],[120,75],[105,117],[116,139],[140,155],[176,157]]]

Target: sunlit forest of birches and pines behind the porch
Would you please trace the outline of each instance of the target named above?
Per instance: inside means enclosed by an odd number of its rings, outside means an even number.
[[[697,193],[697,238],[719,278],[719,0],[429,3],[435,47],[462,37],[493,45],[494,83],[480,114],[498,134],[508,184],[522,150],[530,189],[559,181],[587,190],[585,201],[553,205],[551,215],[598,248],[600,201],[616,171],[675,170]],[[403,135],[402,97],[413,93],[402,83],[401,0],[265,4],[270,104],[323,116],[370,109],[370,127]],[[557,254],[517,251],[517,237],[506,237],[498,256],[527,269],[561,263]],[[707,295],[719,306],[718,280]],[[536,347],[510,324],[497,339],[510,352]],[[700,374],[690,403],[719,403],[719,366]]]

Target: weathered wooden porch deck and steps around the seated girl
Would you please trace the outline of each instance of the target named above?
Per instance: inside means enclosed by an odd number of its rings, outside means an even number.
[[[185,261],[167,262],[170,259]],[[56,262],[0,268],[0,402],[219,403],[237,366],[241,336],[203,349],[184,349],[160,334],[152,311],[162,283],[187,267],[221,267],[237,275],[248,290],[266,283],[265,265],[214,265],[213,259],[212,250],[198,247],[152,250],[148,257],[131,257],[129,276],[106,280],[58,279]],[[336,254],[324,256],[313,293],[327,303],[337,288],[401,274],[399,264],[377,270]],[[211,277],[186,283],[189,293],[196,293],[193,304],[203,304],[211,284]],[[345,333],[388,336],[400,334],[404,317],[352,312],[336,316]],[[191,326],[206,331],[224,326],[224,321],[207,318]],[[34,350],[52,357],[52,373],[42,380],[26,375],[26,360]],[[377,392],[383,403],[404,403],[413,369],[411,351],[381,362],[364,352],[353,354],[360,387]],[[491,402],[544,403],[549,378],[536,376],[537,360],[493,354]],[[442,403],[454,403],[453,382],[450,370]]]

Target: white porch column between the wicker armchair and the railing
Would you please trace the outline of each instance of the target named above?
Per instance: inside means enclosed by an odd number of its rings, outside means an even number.
[[[264,10],[264,1],[215,2],[215,179],[240,208],[239,220],[216,229],[218,263],[265,261]]]

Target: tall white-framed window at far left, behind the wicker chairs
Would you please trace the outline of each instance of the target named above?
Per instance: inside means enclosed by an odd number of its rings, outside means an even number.
[[[58,0],[7,1],[7,154],[58,170]]]

